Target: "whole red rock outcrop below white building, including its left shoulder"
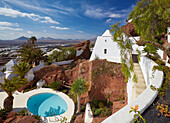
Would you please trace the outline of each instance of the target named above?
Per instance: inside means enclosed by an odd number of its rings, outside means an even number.
[[[121,64],[110,63],[106,60],[79,60],[72,70],[66,70],[69,85],[77,78],[84,78],[89,83],[89,92],[81,95],[81,104],[92,99],[105,100],[110,94],[110,101],[126,97],[126,83],[120,72]]]

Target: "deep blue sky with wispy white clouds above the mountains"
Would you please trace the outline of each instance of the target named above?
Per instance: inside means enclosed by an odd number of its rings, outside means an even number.
[[[122,21],[137,0],[0,0],[0,39],[91,39]]]

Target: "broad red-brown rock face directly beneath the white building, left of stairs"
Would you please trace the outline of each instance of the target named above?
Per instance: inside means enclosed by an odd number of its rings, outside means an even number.
[[[126,83],[120,69],[120,64],[109,63],[106,60],[92,61],[91,73],[89,74],[91,77],[89,79],[91,80],[89,81],[89,100],[106,100],[108,93],[110,94],[110,101],[114,101],[118,97],[125,97]]]

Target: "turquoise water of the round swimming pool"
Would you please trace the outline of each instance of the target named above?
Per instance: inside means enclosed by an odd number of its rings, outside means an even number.
[[[41,117],[63,114],[68,106],[63,98],[52,93],[41,93],[30,97],[27,101],[28,110]]]

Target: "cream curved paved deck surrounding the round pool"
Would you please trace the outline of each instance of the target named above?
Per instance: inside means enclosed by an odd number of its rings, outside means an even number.
[[[50,88],[40,88],[40,89],[35,89],[26,93],[19,93],[19,94],[13,94],[14,96],[14,104],[13,104],[13,108],[14,109],[23,109],[23,108],[27,108],[27,100],[36,94],[40,94],[40,93],[53,93],[53,94],[57,94],[60,97],[62,97],[68,106],[68,109],[65,113],[61,114],[61,115],[57,115],[57,116],[53,116],[53,117],[42,117],[44,122],[48,123],[54,123],[56,122],[58,119],[62,119],[62,117],[66,117],[67,118],[67,122],[71,121],[71,117],[74,114],[74,102],[71,98],[69,98],[66,94],[59,92],[59,91],[54,91]],[[7,97],[7,94],[5,92],[0,92],[0,107],[3,108],[3,101],[4,99]]]

